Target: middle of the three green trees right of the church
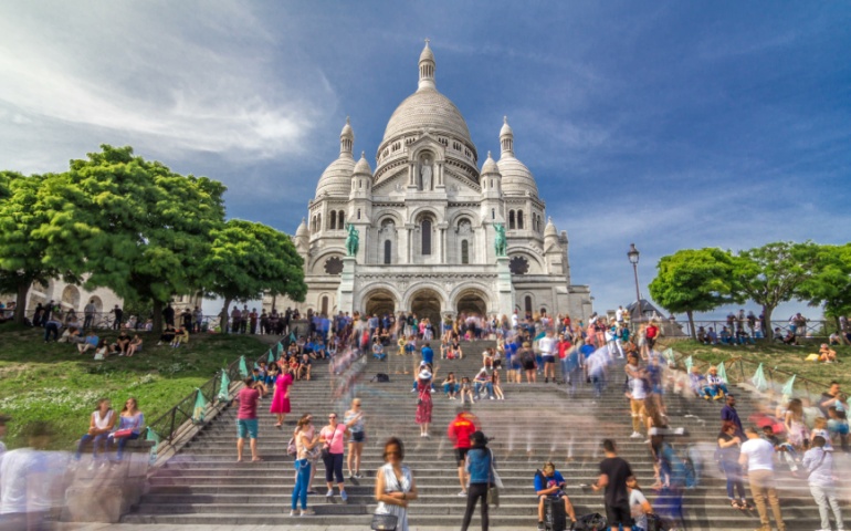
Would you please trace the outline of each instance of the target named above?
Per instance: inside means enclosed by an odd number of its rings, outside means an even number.
[[[811,241],[777,241],[740,251],[736,257],[734,280],[739,294],[763,306],[766,337],[771,330],[771,313],[782,302],[797,298],[812,275],[819,246]]]

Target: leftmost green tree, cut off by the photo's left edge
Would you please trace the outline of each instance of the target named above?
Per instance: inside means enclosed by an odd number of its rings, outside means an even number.
[[[46,284],[51,279],[63,277],[69,281],[78,278],[71,268],[62,268],[51,260],[49,240],[36,236],[38,230],[50,222],[43,208],[51,198],[48,183],[61,179],[61,175],[23,176],[14,171],[0,173],[0,293],[14,293],[14,321],[24,323],[27,295],[33,282]],[[82,261],[78,250],[69,250],[71,260]]]

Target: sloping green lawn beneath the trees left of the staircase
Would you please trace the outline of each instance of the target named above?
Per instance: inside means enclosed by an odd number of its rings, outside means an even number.
[[[99,332],[113,340],[117,332]],[[0,325],[0,412],[11,415],[7,445],[32,420],[48,420],[56,431],[55,448],[71,448],[88,428],[101,397],[120,410],[133,396],[147,420],[154,420],[240,355],[260,356],[269,345],[246,335],[197,334],[179,348],[156,346],[144,334],[143,352],[133,357],[92,360],[66,343],[44,343],[38,330]]]

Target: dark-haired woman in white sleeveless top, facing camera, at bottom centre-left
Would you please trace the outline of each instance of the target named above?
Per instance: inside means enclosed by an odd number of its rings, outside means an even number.
[[[376,514],[392,514],[398,518],[396,531],[409,531],[408,503],[417,499],[417,483],[411,469],[402,465],[402,441],[387,439],[384,458],[386,465],[376,472]]]

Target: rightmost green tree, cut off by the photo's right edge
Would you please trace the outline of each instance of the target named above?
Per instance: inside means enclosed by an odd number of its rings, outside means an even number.
[[[851,243],[820,246],[812,274],[798,291],[811,306],[822,306],[839,329],[839,317],[851,312]]]

